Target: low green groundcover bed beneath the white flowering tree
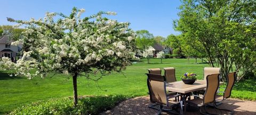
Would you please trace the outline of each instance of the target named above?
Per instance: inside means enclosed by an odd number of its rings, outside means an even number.
[[[28,104],[9,114],[99,114],[126,99],[123,95],[83,97],[74,108],[73,98],[61,98]]]

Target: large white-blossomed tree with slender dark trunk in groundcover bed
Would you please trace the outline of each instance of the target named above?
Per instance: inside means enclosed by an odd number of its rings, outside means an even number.
[[[12,45],[23,44],[23,56],[12,63],[3,58],[5,68],[16,70],[15,75],[44,77],[49,72],[73,76],[74,104],[77,105],[77,77],[99,80],[112,71],[124,70],[135,53],[135,34],[128,22],[117,22],[102,17],[99,12],[81,19],[84,9],[73,8],[69,16],[62,13],[46,13],[44,19],[9,21],[26,25],[24,36]],[[54,20],[58,16],[60,19]],[[2,64],[1,64],[2,65]],[[31,70],[36,70],[31,73]],[[96,79],[91,75],[100,75]]]

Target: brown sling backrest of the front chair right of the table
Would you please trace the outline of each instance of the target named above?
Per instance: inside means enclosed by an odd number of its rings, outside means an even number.
[[[211,103],[215,100],[215,95],[218,91],[219,85],[220,85],[220,79],[219,79],[220,73],[215,73],[212,75],[208,75],[206,77],[206,91],[204,93],[204,103]]]

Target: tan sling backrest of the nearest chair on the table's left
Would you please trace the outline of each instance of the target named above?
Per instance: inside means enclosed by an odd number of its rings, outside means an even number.
[[[162,75],[146,73],[150,101],[168,106],[168,98],[165,88],[165,78]]]

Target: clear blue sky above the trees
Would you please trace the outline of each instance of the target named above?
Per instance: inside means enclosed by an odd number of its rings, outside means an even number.
[[[173,30],[173,20],[179,19],[177,9],[180,6],[179,0],[0,0],[0,25],[15,24],[7,22],[6,17],[18,20],[29,20],[30,18],[43,18],[45,12],[62,12],[69,14],[75,6],[78,9],[84,8],[82,15],[89,16],[98,11],[114,11],[117,13],[111,16],[122,22],[130,22],[133,30],[146,29],[154,36],[167,37],[170,34],[177,35]]]

